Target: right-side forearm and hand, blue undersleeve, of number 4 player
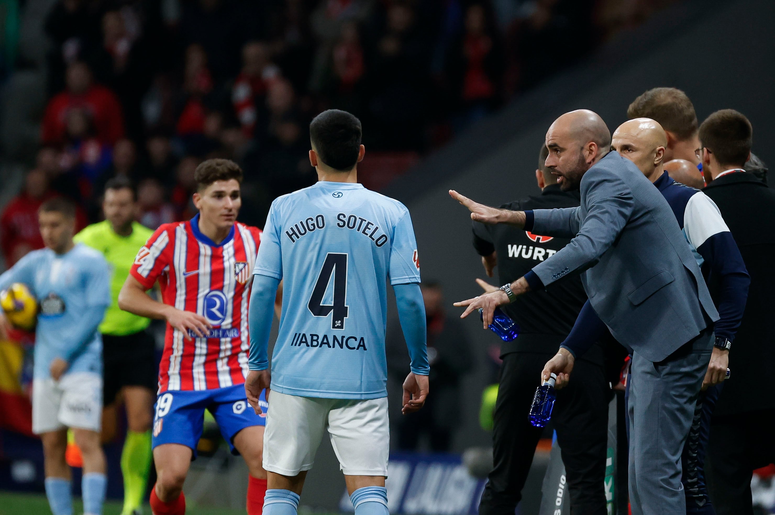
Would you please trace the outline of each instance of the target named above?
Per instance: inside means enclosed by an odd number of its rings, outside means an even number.
[[[428,397],[428,349],[425,331],[425,302],[418,283],[394,284],[395,304],[398,307],[398,319],[404,331],[404,339],[411,360],[412,370],[404,382],[403,413],[419,410]]]

